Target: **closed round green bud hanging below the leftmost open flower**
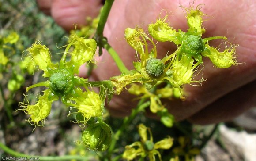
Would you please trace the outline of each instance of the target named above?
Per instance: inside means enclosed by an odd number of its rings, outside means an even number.
[[[91,150],[104,151],[111,143],[111,130],[105,122],[88,125],[82,132],[82,142]]]

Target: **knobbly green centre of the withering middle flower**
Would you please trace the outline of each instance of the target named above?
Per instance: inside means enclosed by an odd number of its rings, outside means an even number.
[[[164,68],[165,64],[160,59],[151,57],[147,60],[146,72],[148,75],[159,77],[163,74]]]

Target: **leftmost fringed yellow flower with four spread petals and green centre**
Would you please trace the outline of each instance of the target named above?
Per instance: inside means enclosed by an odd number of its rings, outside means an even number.
[[[20,103],[23,110],[30,114],[29,121],[38,122],[44,120],[48,116],[52,100],[48,100],[46,95],[56,95],[61,101],[78,109],[84,117],[83,123],[91,117],[102,116],[102,100],[94,91],[87,90],[83,92],[80,86],[87,88],[87,80],[75,76],[79,72],[79,67],[87,61],[91,61],[95,54],[97,44],[94,39],[79,38],[75,34],[70,36],[70,43],[64,47],[65,51],[60,63],[53,64],[49,49],[45,45],[41,45],[39,41],[34,43],[32,47],[26,50],[27,56],[21,67],[27,66],[34,72],[35,66],[44,71],[43,76],[49,77],[45,82],[39,82],[26,88],[26,91],[38,86],[46,86],[45,94],[39,97],[37,104],[30,105]],[[69,49],[73,47],[73,50]],[[67,54],[71,55],[70,61],[66,61]],[[30,71],[31,72],[31,71]],[[10,86],[11,87],[11,86]],[[88,88],[87,88],[88,89]],[[75,101],[75,103],[74,103]],[[44,111],[41,111],[44,109]]]

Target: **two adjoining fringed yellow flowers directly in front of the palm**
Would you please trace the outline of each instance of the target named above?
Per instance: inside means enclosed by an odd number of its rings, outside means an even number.
[[[230,45],[223,52],[218,48],[211,47],[209,41],[213,39],[226,40],[224,36],[213,36],[202,38],[205,32],[203,28],[203,13],[197,6],[184,8],[188,22],[188,31],[183,32],[173,29],[166,22],[168,15],[159,18],[155,23],[148,25],[148,32],[153,39],[161,42],[173,42],[177,45],[177,50],[172,54],[166,54],[162,59],[157,58],[156,45],[143,29],[136,27],[135,29],[127,28],[125,30],[125,39],[127,43],[136,50],[137,62],[133,62],[134,70],[124,75],[112,77],[113,85],[116,87],[116,93],[119,94],[128,84],[137,82],[141,83],[147,90],[151,90],[158,84],[163,82],[170,84],[171,88],[180,91],[180,98],[184,100],[183,85],[200,85],[204,81],[194,80],[194,73],[203,64],[202,57],[209,57],[211,62],[218,68],[228,68],[236,64],[235,47]],[[151,47],[149,47],[151,45]],[[151,48],[151,49],[150,49]],[[134,86],[133,86],[134,88]],[[132,93],[132,92],[131,92]],[[140,94],[144,94],[140,93]],[[159,98],[149,96],[151,100],[151,111],[161,111],[162,105]],[[170,97],[170,96],[169,96]],[[153,108],[154,104],[158,104],[158,108]]]

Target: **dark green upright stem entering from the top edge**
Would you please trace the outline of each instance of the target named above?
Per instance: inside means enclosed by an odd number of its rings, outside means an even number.
[[[106,21],[108,19],[109,12],[111,10],[113,2],[114,2],[114,0],[106,0],[105,1],[104,7],[102,9],[101,16],[100,16],[100,20],[99,20],[99,23],[98,23],[98,27],[97,27],[97,30],[96,30],[96,34],[98,36],[103,36],[103,30],[104,30]]]

